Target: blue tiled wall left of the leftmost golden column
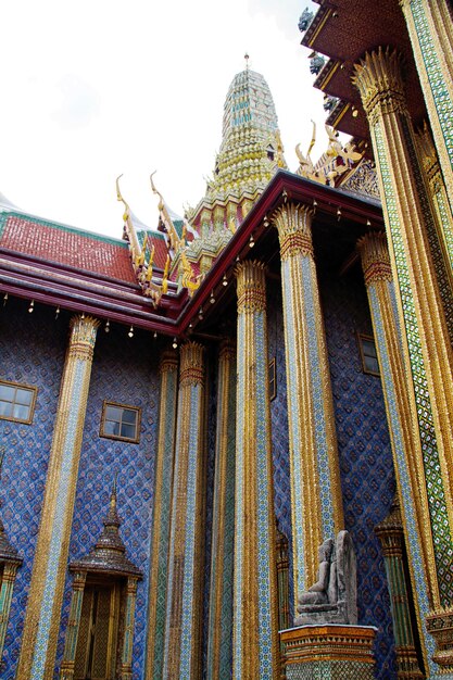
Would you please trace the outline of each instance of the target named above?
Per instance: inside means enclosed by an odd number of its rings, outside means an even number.
[[[32,425],[0,420],[0,446],[5,446],[0,482],[1,517],[11,543],[23,557],[11,603],[0,677],[15,676],[24,613],[32,577],[47,464],[52,443],[68,318],[54,311],[10,299],[0,306],[0,377],[38,388]]]

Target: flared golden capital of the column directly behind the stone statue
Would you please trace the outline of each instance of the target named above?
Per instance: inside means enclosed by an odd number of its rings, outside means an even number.
[[[278,229],[281,260],[313,255],[312,219],[313,209],[300,203],[287,203],[275,211],[273,222]]]

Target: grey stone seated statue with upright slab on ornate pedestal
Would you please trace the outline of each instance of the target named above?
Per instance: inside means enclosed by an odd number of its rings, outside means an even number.
[[[299,596],[294,626],[357,622],[355,552],[351,536],[340,531],[337,540],[319,546],[318,580]]]

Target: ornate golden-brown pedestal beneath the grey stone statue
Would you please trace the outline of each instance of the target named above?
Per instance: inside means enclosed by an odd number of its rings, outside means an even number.
[[[373,680],[372,626],[301,626],[280,632],[287,680]]]

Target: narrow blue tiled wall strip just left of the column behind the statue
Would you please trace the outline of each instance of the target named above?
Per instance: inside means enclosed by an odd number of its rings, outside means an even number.
[[[274,504],[279,530],[289,540],[289,606],[293,616],[292,551],[291,551],[291,482],[289,465],[287,375],[281,285],[267,284],[268,357],[275,358],[277,394],[270,402],[272,446],[274,462]]]

